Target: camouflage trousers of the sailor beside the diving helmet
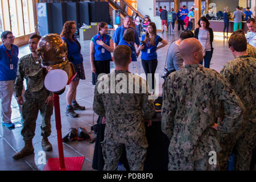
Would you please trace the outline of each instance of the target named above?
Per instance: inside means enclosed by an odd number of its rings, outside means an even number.
[[[42,116],[41,135],[49,137],[51,135],[51,115],[53,112],[53,105],[47,105],[46,99],[49,96],[49,91],[46,88],[38,92],[31,92],[26,90],[25,100],[22,106],[23,129],[21,134],[24,140],[30,140],[35,136],[36,119],[38,118],[38,111]]]

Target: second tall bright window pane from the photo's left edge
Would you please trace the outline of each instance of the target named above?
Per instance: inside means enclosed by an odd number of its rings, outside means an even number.
[[[9,7],[10,7],[10,18],[11,18],[11,31],[13,32],[14,36],[18,36],[19,31],[18,31],[18,21],[17,21],[17,15],[16,15],[15,0],[9,0]]]

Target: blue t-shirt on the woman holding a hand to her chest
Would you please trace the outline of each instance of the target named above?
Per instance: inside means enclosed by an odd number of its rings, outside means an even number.
[[[93,38],[92,38],[92,42],[94,43],[94,60],[96,61],[106,61],[106,60],[110,60],[111,59],[111,53],[105,49],[103,46],[97,45],[96,41],[100,40],[104,41],[104,43],[108,46],[110,46],[110,39],[111,36],[105,34],[101,37],[100,34],[96,34]],[[104,53],[102,53],[101,49],[104,49]]]

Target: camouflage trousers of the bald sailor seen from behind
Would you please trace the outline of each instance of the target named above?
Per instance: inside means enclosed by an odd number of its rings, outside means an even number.
[[[218,164],[218,162],[217,162]],[[196,161],[187,158],[179,158],[169,152],[169,171],[216,171],[217,164],[209,164],[209,156]]]

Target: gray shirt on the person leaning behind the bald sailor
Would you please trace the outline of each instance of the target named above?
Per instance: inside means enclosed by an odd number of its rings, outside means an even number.
[[[175,44],[175,41],[171,43],[167,52],[166,67],[168,71],[175,71],[183,68],[183,59],[179,52],[179,46]]]

